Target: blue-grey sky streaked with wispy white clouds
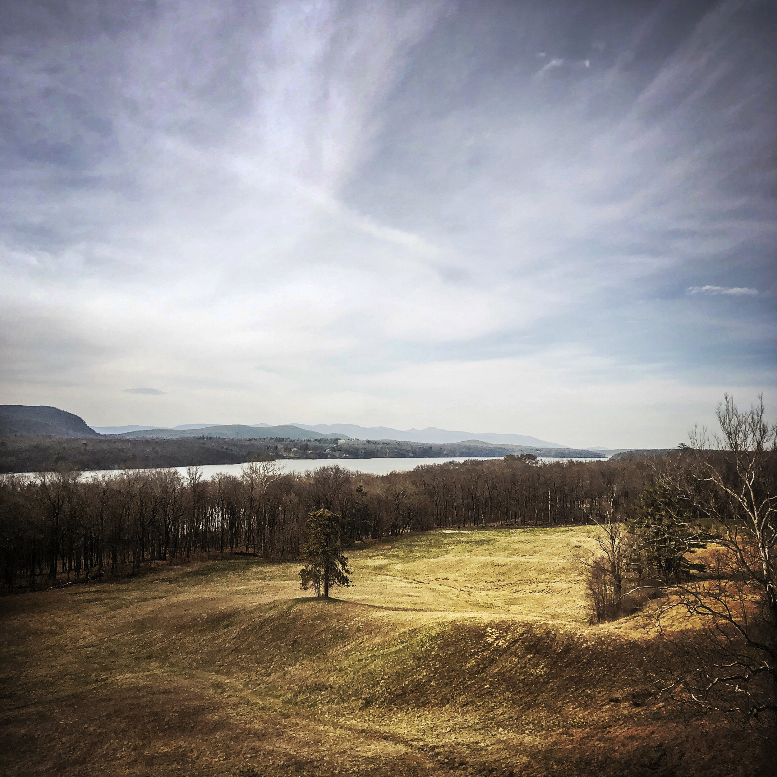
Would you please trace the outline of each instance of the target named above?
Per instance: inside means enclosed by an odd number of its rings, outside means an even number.
[[[777,416],[772,2],[2,13],[3,404],[611,448]]]

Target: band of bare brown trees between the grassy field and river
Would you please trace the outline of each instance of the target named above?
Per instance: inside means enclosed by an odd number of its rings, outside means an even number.
[[[441,527],[587,523],[613,487],[628,509],[651,471],[639,460],[536,465],[508,457],[385,476],[336,465],[283,475],[272,462],[210,480],[197,468],[186,476],[2,476],[2,584],[13,590],[120,577],[212,553],[296,559],[313,510],[339,516],[347,544]]]

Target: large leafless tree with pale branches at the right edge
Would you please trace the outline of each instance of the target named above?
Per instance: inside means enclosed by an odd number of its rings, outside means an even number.
[[[670,660],[654,681],[674,699],[761,723],[775,733],[777,579],[775,437],[762,397],[717,409],[722,436],[694,430],[691,451],[659,479],[691,505],[715,548],[706,573],[674,584],[656,612]],[[685,629],[685,615],[697,628]]]

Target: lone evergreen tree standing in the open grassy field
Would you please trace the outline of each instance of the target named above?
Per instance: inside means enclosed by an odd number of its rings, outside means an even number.
[[[308,514],[305,524],[308,539],[302,546],[305,566],[299,570],[302,591],[315,588],[315,595],[329,598],[329,589],[336,585],[350,586],[348,559],[343,556],[340,539],[340,518],[329,510]]]

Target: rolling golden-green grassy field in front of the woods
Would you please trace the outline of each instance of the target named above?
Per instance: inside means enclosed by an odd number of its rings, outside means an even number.
[[[588,625],[591,528],[410,535],[0,600],[3,775],[761,775],[650,696],[639,616]]]

